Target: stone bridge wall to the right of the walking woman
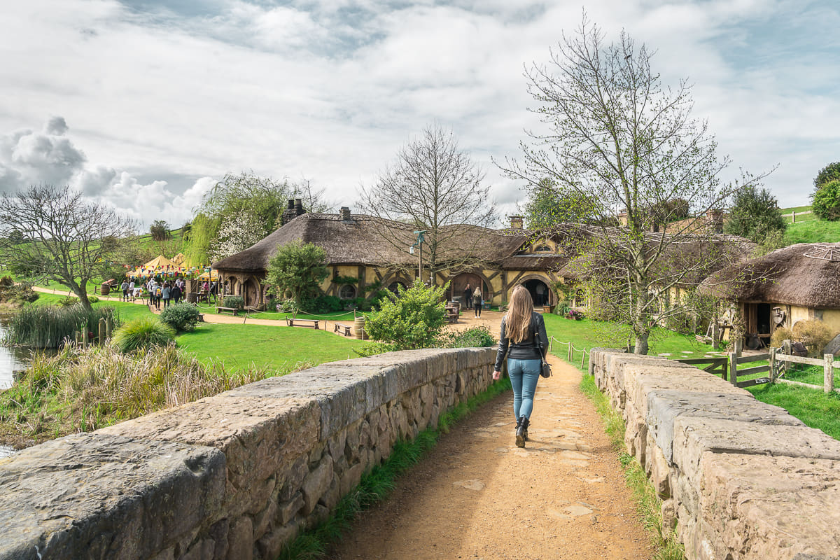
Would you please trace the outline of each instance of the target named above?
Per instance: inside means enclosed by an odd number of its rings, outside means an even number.
[[[840,558],[840,442],[693,366],[593,351],[689,560]]]

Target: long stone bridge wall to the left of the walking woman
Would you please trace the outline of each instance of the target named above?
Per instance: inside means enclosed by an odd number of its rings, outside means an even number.
[[[323,364],[0,459],[0,559],[275,560],[398,438],[485,390],[495,356]]]

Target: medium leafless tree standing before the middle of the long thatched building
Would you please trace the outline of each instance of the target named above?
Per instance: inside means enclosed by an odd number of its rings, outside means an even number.
[[[496,222],[490,186],[482,181],[484,173],[459,149],[452,131],[432,124],[397,152],[375,185],[363,188],[360,208],[425,231],[423,260],[434,279],[444,266],[457,270],[476,264],[471,245],[480,238],[465,235],[459,226],[486,228]],[[383,228],[383,237],[407,249],[405,238],[395,239],[391,228]]]

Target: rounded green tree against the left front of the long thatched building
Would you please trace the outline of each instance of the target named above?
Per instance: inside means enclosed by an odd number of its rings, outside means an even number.
[[[307,309],[307,304],[318,296],[321,281],[329,275],[324,264],[326,257],[314,243],[288,243],[270,259],[265,281],[276,295],[288,292],[298,307]]]

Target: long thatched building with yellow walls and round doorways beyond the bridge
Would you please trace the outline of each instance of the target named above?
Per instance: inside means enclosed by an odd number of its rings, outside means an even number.
[[[265,272],[277,248],[300,240],[324,249],[333,274],[322,290],[331,296],[352,300],[364,295],[365,286],[379,283],[396,290],[417,278],[417,254],[409,249],[417,240],[414,228],[402,222],[352,215],[344,207],[338,214],[304,213],[290,217],[281,228],[241,253],[213,263],[228,293],[242,295],[246,305],[265,302]],[[521,220],[507,229],[469,225],[444,228],[438,248],[438,285],[450,282],[449,296],[458,298],[465,286],[482,285],[486,301],[508,301],[517,284],[525,285],[540,304],[552,305],[557,296],[553,285],[567,258],[552,238],[521,227]],[[428,259],[428,247],[423,248]],[[426,270],[425,274],[428,274]],[[354,283],[342,280],[353,278]]]

